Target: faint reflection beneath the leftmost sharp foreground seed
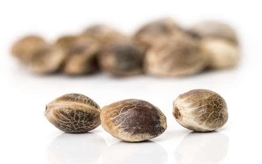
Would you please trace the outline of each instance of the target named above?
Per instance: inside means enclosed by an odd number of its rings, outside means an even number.
[[[105,148],[104,139],[95,133],[62,133],[52,140],[46,154],[50,163],[98,163]]]

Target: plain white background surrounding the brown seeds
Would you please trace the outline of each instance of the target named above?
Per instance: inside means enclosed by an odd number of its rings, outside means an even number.
[[[261,44],[259,1],[1,1],[0,163],[261,163]],[[232,26],[241,43],[241,61],[229,70],[185,78],[104,73],[70,77],[29,73],[10,55],[12,43],[35,33],[53,42],[104,23],[132,34],[149,20],[170,16],[188,27],[200,20]],[[225,98],[229,119],[212,133],[192,133],[172,116],[172,101],[191,89],[213,90]],[[139,98],[159,107],[167,130],[147,142],[128,143],[102,127],[86,134],[59,131],[43,116],[45,105],[66,93],[82,93],[102,108]]]

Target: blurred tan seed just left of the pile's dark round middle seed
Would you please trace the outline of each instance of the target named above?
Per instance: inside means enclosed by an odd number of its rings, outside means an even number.
[[[97,53],[99,44],[95,39],[77,37],[69,47],[63,72],[70,75],[90,74],[98,70]]]

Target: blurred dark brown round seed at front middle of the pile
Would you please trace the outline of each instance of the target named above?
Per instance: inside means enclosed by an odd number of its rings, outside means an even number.
[[[143,70],[142,52],[128,41],[115,42],[105,47],[98,56],[102,70],[115,76],[141,74]]]

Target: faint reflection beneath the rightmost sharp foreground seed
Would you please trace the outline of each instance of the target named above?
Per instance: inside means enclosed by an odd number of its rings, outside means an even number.
[[[221,132],[191,132],[174,151],[174,160],[176,163],[220,163],[227,155],[228,142],[228,136]]]

